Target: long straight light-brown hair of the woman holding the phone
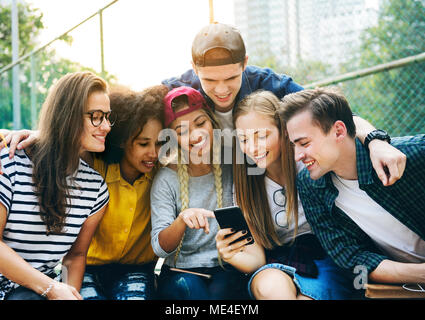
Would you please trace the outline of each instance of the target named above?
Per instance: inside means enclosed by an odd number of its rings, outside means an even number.
[[[288,224],[292,221],[295,223],[295,238],[298,231],[298,197],[295,183],[297,171],[293,148],[287,138],[285,124],[282,122],[278,112],[281,105],[282,102],[272,92],[256,91],[239,102],[234,111],[233,123],[235,125],[238,117],[254,111],[270,118],[279,129],[281,168],[285,196],[287,199],[286,214]],[[236,148],[238,148],[238,152],[242,152],[238,141],[236,143]],[[264,183],[265,174],[249,175],[249,164],[246,161],[246,155],[243,156],[243,163],[238,164],[235,161],[235,154],[237,152],[235,149],[233,157],[233,181],[235,185],[236,203],[241,207],[251,232],[254,233],[256,240],[264,248],[271,249],[275,245],[281,245],[274,228],[269,203],[267,201],[268,197]]]

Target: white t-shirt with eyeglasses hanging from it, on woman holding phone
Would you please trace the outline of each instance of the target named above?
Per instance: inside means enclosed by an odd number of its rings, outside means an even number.
[[[297,163],[298,172],[302,170],[302,163]],[[294,220],[288,225],[286,214],[286,197],[284,188],[272,179],[265,177],[264,184],[267,191],[270,213],[273,218],[276,233],[282,243],[288,243],[293,239],[295,223]],[[301,200],[298,197],[298,231],[297,236],[312,233],[311,227],[304,215],[304,209]]]

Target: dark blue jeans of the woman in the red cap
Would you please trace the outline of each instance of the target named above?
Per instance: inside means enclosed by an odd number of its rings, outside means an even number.
[[[158,279],[158,295],[168,300],[231,300],[249,299],[248,278],[235,268],[191,268],[190,271],[210,274],[210,279],[169,270],[163,265]]]

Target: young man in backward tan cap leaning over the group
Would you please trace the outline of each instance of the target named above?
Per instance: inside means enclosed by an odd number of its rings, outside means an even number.
[[[212,23],[202,28],[192,43],[192,68],[180,77],[162,81],[169,88],[189,86],[199,90],[215,111],[223,128],[233,130],[233,107],[256,90],[272,91],[279,99],[303,88],[269,68],[248,66],[248,56],[240,32],[227,24]],[[355,116],[357,137],[371,141],[371,160],[384,185],[403,174],[406,158],[389,145],[388,134]],[[385,169],[384,169],[385,168]]]

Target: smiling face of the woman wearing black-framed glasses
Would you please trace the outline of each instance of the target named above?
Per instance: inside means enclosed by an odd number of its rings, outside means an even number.
[[[105,92],[95,91],[87,99],[86,112],[100,110],[110,112],[109,97]],[[105,140],[108,132],[111,131],[106,119],[103,119],[100,126],[95,127],[90,120],[90,115],[84,115],[84,129],[81,136],[80,154],[86,151],[102,152],[105,150]]]

